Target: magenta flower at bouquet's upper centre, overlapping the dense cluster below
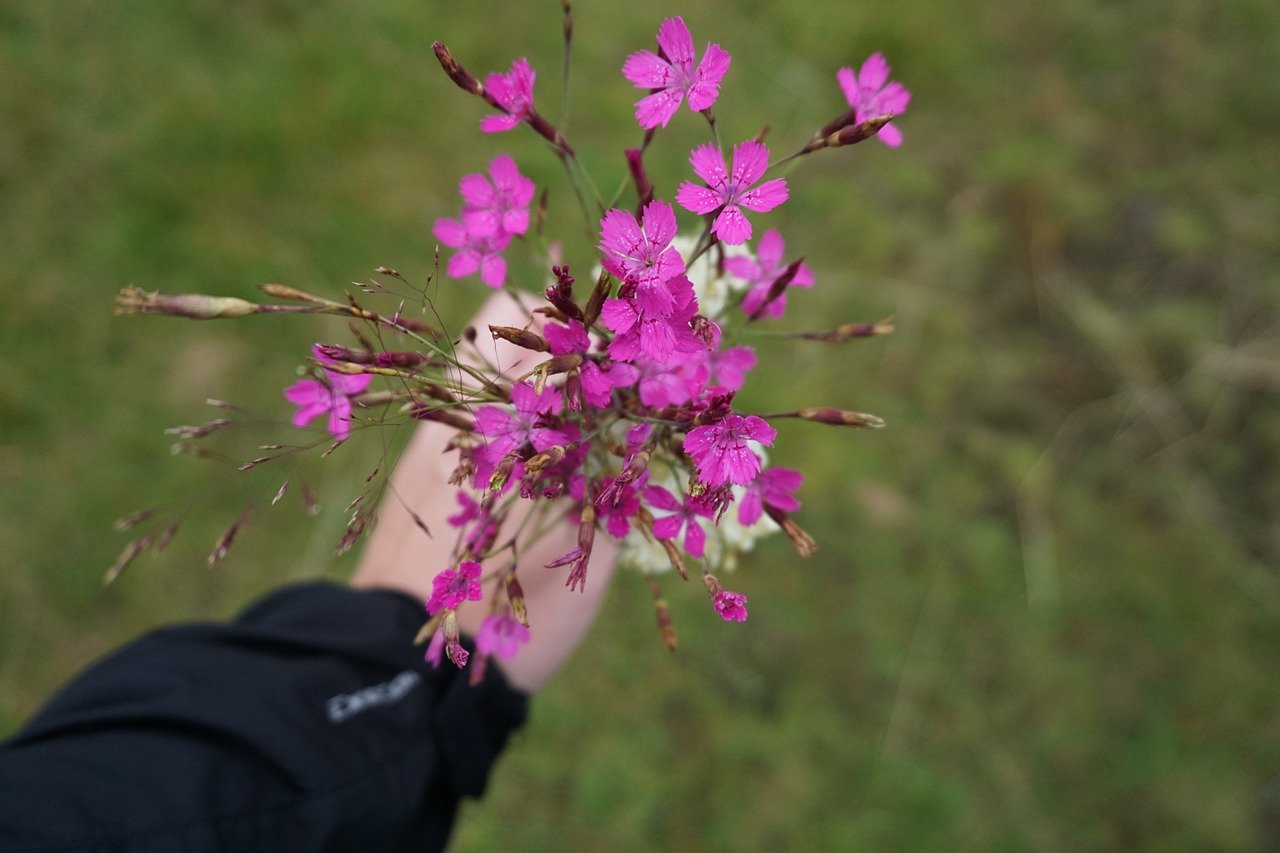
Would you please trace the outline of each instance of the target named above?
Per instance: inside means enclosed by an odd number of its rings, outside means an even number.
[[[676,237],[676,211],[666,201],[650,201],[641,222],[626,210],[611,210],[600,220],[602,264],[623,282],[635,284],[636,301],[645,311],[671,314],[675,301],[668,279],[685,272],[685,260],[671,247]]]

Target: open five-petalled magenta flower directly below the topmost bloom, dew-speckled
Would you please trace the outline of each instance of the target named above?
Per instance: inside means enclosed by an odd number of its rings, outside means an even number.
[[[724,155],[714,143],[708,142],[694,149],[689,156],[694,174],[707,182],[699,187],[691,181],[680,184],[676,201],[695,214],[709,214],[721,209],[712,232],[730,246],[745,243],[751,238],[751,223],[742,214],[742,207],[755,213],[773,210],[787,200],[787,182],[783,178],[765,181],[753,187],[769,167],[769,149],[763,142],[748,140],[733,146],[733,169],[724,169]]]

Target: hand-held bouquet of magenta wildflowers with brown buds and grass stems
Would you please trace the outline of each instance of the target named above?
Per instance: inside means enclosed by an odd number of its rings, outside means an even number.
[[[563,6],[567,59],[572,22],[568,4]],[[454,560],[436,567],[420,635],[431,639],[428,654],[436,662],[447,654],[457,666],[466,665],[456,611],[485,599],[475,605],[490,610],[477,638],[480,652],[515,653],[529,637],[520,575],[559,570],[570,590],[581,590],[589,583],[593,543],[602,535],[621,540],[623,561],[648,574],[669,646],[675,634],[654,575],[673,570],[687,580],[690,558],[700,561],[703,584],[721,619],[745,620],[746,596],[726,589],[719,579],[737,555],[777,530],[801,556],[815,548],[791,517],[800,507],[800,471],[767,465],[765,448],[777,437],[772,421],[883,425],[873,415],[828,407],[751,414],[737,410],[733,397],[756,362],[754,348],[741,343],[745,327],[781,318],[791,291],[814,284],[801,259],[787,259],[778,231],[755,238],[753,219],[786,202],[791,190],[783,168],[800,158],[870,137],[900,145],[901,133],[890,120],[902,113],[910,93],[887,82],[888,65],[876,54],[856,73],[837,72],[847,109],[790,156],[773,160],[763,138],[740,141],[726,156],[713,106],[730,70],[730,54],[708,44],[699,59],[680,18],[662,22],[657,42],[657,53],[639,50],[622,65],[626,81],[644,91],[635,105],[643,142],[623,152],[628,175],[623,186],[635,191],[630,209],[614,206],[617,199],[605,204],[595,196],[568,138],[538,111],[536,74],[527,60],[517,59],[506,73],[481,82],[443,44],[434,45],[449,78],[495,110],[480,120],[483,132],[524,126],[547,140],[598,241],[599,266],[590,287],[577,288],[568,266],[548,259],[549,277],[538,282],[540,302],[531,309],[527,297],[518,302],[529,309],[527,320],[486,329],[494,339],[532,355],[534,366],[521,375],[503,375],[488,364],[475,346],[474,329],[456,339],[408,316],[407,300],[429,307],[426,288],[388,268],[379,268],[362,291],[399,298],[401,307],[390,314],[366,307],[351,293],[335,301],[280,284],[261,286],[279,300],[274,304],[166,296],[134,287],[119,296],[119,313],[349,318],[356,339],[315,345],[311,375],[284,389],[297,407],[296,426],[323,419],[326,437],[311,444],[316,450],[406,419],[453,430],[449,448],[456,465],[449,483],[457,488],[460,507],[449,519]],[[564,67],[567,73],[567,61]],[[710,140],[690,152],[692,174],[667,200],[649,179],[645,151],[686,102],[705,118]],[[503,254],[531,228],[541,229],[545,204],[532,210],[538,187],[513,158],[499,155],[488,173],[465,175],[458,188],[461,213],[438,219],[434,227],[439,243],[452,252],[444,273],[475,275],[490,288],[509,289]],[[680,233],[681,219],[691,227],[687,236]],[[881,321],[791,334],[838,342],[888,330],[888,321]],[[224,418],[174,432],[191,442],[230,423]],[[273,459],[261,456],[242,467]],[[276,500],[283,491],[282,485]],[[517,511],[521,505],[532,505],[534,511]],[[357,498],[349,510],[339,551],[374,521],[369,501]],[[577,523],[576,547],[545,567],[516,565],[521,543],[547,528],[539,519],[550,523],[566,515]],[[521,521],[511,524],[513,517]],[[221,537],[211,561],[225,553],[243,521],[242,516]],[[142,549],[163,546],[173,530],[132,543],[109,578]],[[492,589],[488,596],[485,585]]]

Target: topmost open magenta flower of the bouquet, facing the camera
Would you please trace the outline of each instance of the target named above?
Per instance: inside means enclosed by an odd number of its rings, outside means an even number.
[[[708,44],[695,69],[694,37],[681,18],[662,22],[658,47],[662,55],[641,50],[627,56],[622,65],[622,76],[636,88],[658,90],[636,101],[636,120],[646,131],[659,124],[667,127],[685,97],[695,113],[710,109],[730,63],[728,53],[719,45]]]

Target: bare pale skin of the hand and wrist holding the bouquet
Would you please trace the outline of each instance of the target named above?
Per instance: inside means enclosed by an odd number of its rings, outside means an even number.
[[[530,304],[527,307],[531,306]],[[545,355],[504,341],[490,341],[489,325],[525,327],[529,324],[527,307],[517,306],[511,296],[497,295],[474,320],[476,346],[483,359],[495,364],[508,378],[524,374]],[[481,355],[468,357],[461,350],[460,355],[472,364],[481,361]],[[442,569],[457,567],[453,555],[457,532],[445,520],[458,511],[456,489],[448,484],[449,474],[457,464],[457,453],[445,451],[453,432],[435,423],[424,423],[417,428],[392,474],[392,489],[379,508],[378,525],[351,579],[352,587],[396,589],[425,602],[431,592],[431,578]],[[406,507],[419,515],[431,537],[417,526]],[[530,501],[517,501],[503,525],[499,542],[506,542],[520,528],[530,508]],[[545,535],[522,543],[516,564],[529,611],[530,640],[512,660],[490,661],[515,686],[527,693],[541,688],[586,635],[604,599],[617,561],[616,542],[608,534],[598,533],[585,590],[568,590],[564,580],[570,569],[544,566],[577,546],[577,516],[571,512],[566,501],[559,502],[556,510],[554,515],[545,516],[547,521],[541,525],[549,528]],[[507,551],[497,561],[492,561],[493,565],[490,561],[484,564],[485,574],[509,562],[511,552]],[[493,585],[488,583],[483,601],[466,602],[458,608],[462,633],[475,637],[480,621],[489,613],[492,594]],[[426,620],[425,610],[422,619]],[[444,666],[452,665],[445,661]]]

